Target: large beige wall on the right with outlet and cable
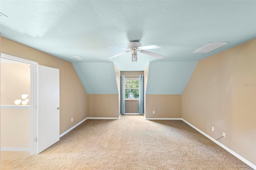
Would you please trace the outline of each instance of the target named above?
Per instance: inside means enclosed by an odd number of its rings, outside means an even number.
[[[182,118],[253,164],[255,67],[256,39],[199,61],[182,93]]]

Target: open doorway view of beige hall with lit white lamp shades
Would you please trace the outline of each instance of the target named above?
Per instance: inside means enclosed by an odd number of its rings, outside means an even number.
[[[30,151],[30,64],[1,59],[1,150]]]

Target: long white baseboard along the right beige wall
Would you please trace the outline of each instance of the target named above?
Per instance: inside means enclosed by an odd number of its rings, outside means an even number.
[[[212,140],[214,143],[218,144],[220,147],[224,148],[226,151],[230,152],[232,155],[236,156],[236,158],[242,160],[244,163],[246,163],[250,167],[254,168],[254,170],[256,170],[256,165],[254,165],[252,162],[249,162],[248,160],[246,160],[245,158],[243,158],[242,156],[240,156],[239,154],[237,154],[236,152],[234,152],[233,150],[231,150],[230,148],[228,148],[224,144],[220,143],[218,140],[215,140],[214,138],[212,138],[211,136],[209,136],[208,134],[206,134],[205,132],[203,132],[199,128],[195,127],[194,125],[188,123],[184,119],[181,119],[181,120],[184,121],[186,124],[190,125],[192,128],[196,129],[198,132],[202,133],[204,136],[206,136],[207,138]]]

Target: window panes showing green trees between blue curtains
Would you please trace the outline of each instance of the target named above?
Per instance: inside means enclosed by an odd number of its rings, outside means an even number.
[[[125,98],[138,99],[139,98],[139,80],[125,79]]]

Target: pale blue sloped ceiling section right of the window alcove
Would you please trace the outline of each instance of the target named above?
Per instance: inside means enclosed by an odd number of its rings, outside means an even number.
[[[152,62],[146,94],[182,94],[198,61]]]

